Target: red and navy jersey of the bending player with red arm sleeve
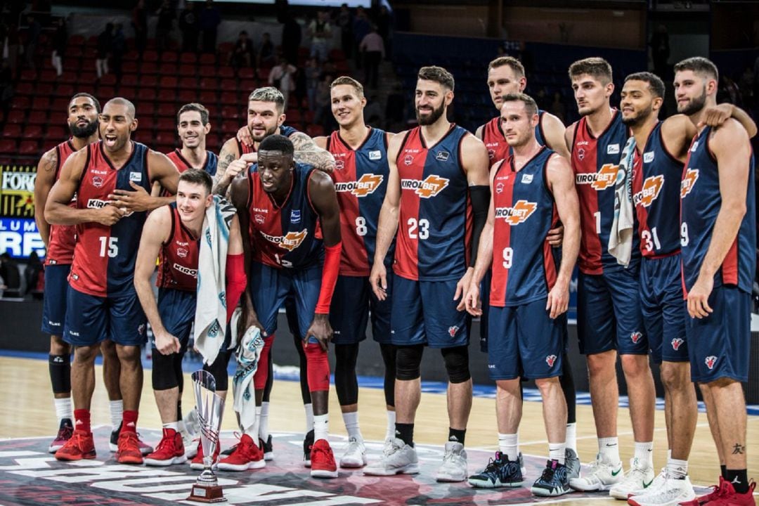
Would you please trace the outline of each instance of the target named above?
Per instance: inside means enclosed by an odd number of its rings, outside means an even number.
[[[301,269],[317,265],[323,257],[319,215],[313,209],[308,183],[310,165],[295,163],[290,192],[278,205],[263,190],[258,165],[247,174],[250,242],[253,259],[266,266]]]

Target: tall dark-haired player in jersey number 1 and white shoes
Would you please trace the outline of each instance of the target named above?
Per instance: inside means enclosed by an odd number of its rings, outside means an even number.
[[[614,84],[612,68],[606,60],[575,61],[569,67],[569,78],[582,116],[565,134],[580,199],[578,336],[580,351],[587,356],[599,448],[590,472],[569,483],[584,491],[614,486],[612,494],[626,498],[653,480],[655,400],[638,296],[638,232],[633,234],[631,260],[626,268],[608,250],[614,183],[628,131],[622,124],[622,115],[609,105]],[[616,432],[617,354],[622,357],[635,436],[635,457],[626,475],[622,474]]]

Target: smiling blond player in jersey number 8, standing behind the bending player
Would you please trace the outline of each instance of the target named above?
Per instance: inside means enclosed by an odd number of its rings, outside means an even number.
[[[335,344],[335,390],[348,431],[348,448],[340,458],[340,467],[363,467],[367,460],[358,423],[356,360],[370,316],[372,336],[379,343],[385,364],[386,439],[395,435],[395,351],[390,343],[390,300],[377,299],[369,284],[377,220],[389,174],[387,144],[392,134],[364,123],[367,99],[364,86],[357,80],[342,76],[329,87],[332,115],[339,130],[329,137],[316,137],[314,142],[335,157],[332,180],[340,204],[340,234],[345,245],[329,313]],[[387,269],[392,256],[385,258]],[[391,286],[389,278],[388,294]]]

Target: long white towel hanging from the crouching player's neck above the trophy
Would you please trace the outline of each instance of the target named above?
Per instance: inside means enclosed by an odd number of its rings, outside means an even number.
[[[218,195],[206,209],[197,262],[195,347],[211,365],[224,344],[227,319],[226,267],[229,226],[235,206]]]

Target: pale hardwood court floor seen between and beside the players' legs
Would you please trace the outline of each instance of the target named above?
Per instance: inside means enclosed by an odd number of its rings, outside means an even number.
[[[0,357],[0,406],[4,416],[0,416],[0,438],[20,438],[54,435],[56,427],[55,410],[52,403],[48,365],[44,360]],[[97,366],[96,388],[93,396],[93,425],[108,425],[108,398],[102,385],[102,368]],[[185,375],[186,388],[182,403],[185,410],[194,406],[191,380]],[[330,432],[345,434],[345,427],[339,415],[339,405],[334,389],[330,392],[329,410],[332,413]],[[361,430],[367,440],[381,441],[385,435],[386,414],[383,391],[377,388],[361,388],[360,392]],[[150,371],[145,373],[143,398],[140,404],[138,426],[159,429],[161,426],[158,410],[150,388]],[[525,402],[522,417],[520,439],[524,454],[544,455],[547,453],[546,435],[543,430],[542,405],[538,402]],[[442,445],[447,436],[446,396],[442,394],[423,394],[414,438],[420,443]],[[304,413],[298,382],[275,382],[269,414],[269,428],[272,432],[303,431]],[[235,430],[235,413],[231,407],[231,397],[225,408],[225,420],[222,429]],[[759,478],[759,446],[752,442],[759,440],[759,416],[748,418],[748,470],[749,476]],[[627,409],[619,410],[619,442],[622,459],[627,469],[627,460],[632,456],[633,439]],[[155,445],[156,442],[150,442]],[[495,451],[496,427],[495,407],[492,399],[474,398],[472,413],[467,432],[467,446]],[[578,450],[581,460],[587,463],[596,451],[597,444],[590,406],[578,406]],[[656,431],[654,433],[654,463],[658,467],[666,461],[666,430],[664,413],[656,412]],[[485,462],[469,462],[470,470],[478,469]],[[716,451],[707,425],[705,413],[698,416],[698,428],[694,438],[690,458],[691,480],[694,484],[708,486],[716,481],[719,473]],[[572,501],[572,496],[565,496],[565,504],[584,504],[587,499]],[[602,504],[623,504],[600,498],[594,501]]]

